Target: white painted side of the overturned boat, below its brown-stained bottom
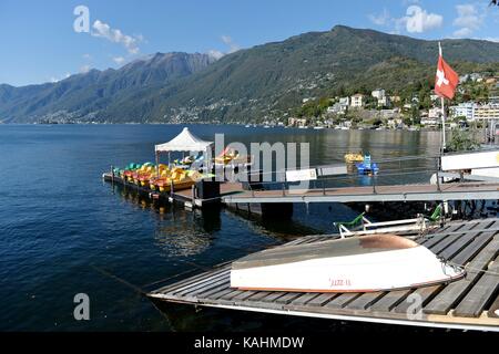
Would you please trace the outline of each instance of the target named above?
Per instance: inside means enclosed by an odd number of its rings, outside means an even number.
[[[253,266],[257,263],[254,261]],[[466,274],[464,269],[441,262],[424,246],[263,267],[246,266],[243,262],[234,267],[233,263],[232,288],[292,292],[374,292],[450,282]]]

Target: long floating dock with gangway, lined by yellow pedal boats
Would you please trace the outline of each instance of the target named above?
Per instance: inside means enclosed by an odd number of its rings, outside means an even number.
[[[126,183],[111,173],[103,174],[103,179],[125,187],[131,187],[154,198],[173,198],[194,207],[211,202],[238,205],[242,209],[251,209],[256,204],[293,204],[293,202],[376,202],[376,201],[450,201],[450,200],[498,200],[499,183],[467,181],[440,185],[391,185],[369,187],[339,187],[314,189],[274,189],[247,190],[242,183],[220,183],[220,197],[203,199],[196,197],[193,189],[171,192],[157,192]]]

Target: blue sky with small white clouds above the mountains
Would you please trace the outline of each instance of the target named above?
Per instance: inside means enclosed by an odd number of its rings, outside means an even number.
[[[0,83],[58,81],[91,67],[119,67],[155,52],[223,55],[335,24],[421,39],[498,41],[499,8],[489,8],[488,2],[1,0]],[[78,6],[89,9],[89,32],[74,31]]]

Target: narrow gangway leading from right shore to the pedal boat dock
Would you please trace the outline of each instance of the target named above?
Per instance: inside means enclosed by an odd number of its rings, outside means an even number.
[[[222,198],[224,202],[371,202],[499,199],[497,183],[391,185],[315,189],[244,190]]]

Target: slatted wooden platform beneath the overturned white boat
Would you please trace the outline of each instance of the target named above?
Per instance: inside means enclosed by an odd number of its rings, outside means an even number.
[[[287,244],[330,238],[308,236]],[[465,266],[466,278],[449,284],[373,293],[241,291],[230,288],[231,264],[223,264],[157,289],[149,296],[233,310],[499,332],[499,219],[450,222],[418,241]],[[415,306],[415,301],[420,301],[422,311],[411,312],[421,309]]]

